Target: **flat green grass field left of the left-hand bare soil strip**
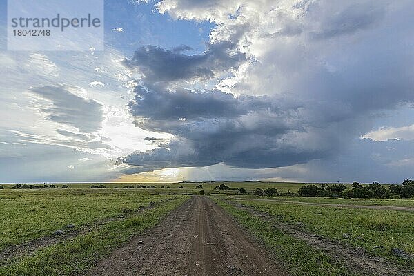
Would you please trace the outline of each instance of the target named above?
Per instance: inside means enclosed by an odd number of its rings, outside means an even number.
[[[2,190],[0,250],[52,235],[68,224],[75,224],[76,229],[173,197],[146,195],[141,190]]]

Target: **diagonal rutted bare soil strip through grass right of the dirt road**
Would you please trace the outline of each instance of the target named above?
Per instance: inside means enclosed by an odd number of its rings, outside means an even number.
[[[361,248],[353,248],[347,244],[342,244],[341,242],[332,241],[330,239],[326,239],[325,237],[315,235],[315,233],[311,233],[300,227],[295,227],[292,224],[275,221],[275,217],[272,215],[259,211],[253,207],[237,204],[231,201],[226,202],[237,208],[242,208],[243,210],[248,211],[252,215],[255,215],[255,217],[260,217],[266,221],[272,221],[273,227],[276,230],[282,230],[285,233],[293,235],[293,237],[296,237],[297,239],[302,239],[304,242],[314,246],[315,248],[324,250],[324,252],[331,255],[333,259],[362,275],[414,275],[414,270],[388,262],[388,260],[382,257],[369,255]]]

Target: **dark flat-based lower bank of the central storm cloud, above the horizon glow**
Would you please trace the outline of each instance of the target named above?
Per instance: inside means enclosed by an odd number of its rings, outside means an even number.
[[[135,172],[224,163],[239,168],[289,166],[330,155],[337,139],[326,143],[319,131],[305,130],[312,118],[302,106],[272,97],[234,97],[219,90],[148,92],[136,88],[129,105],[137,126],[168,132],[175,139],[149,152],[124,157]],[[155,97],[156,96],[156,97]],[[326,122],[326,128],[335,122]],[[328,130],[323,130],[327,132]],[[304,136],[302,138],[302,136]],[[314,136],[315,147],[292,141]]]

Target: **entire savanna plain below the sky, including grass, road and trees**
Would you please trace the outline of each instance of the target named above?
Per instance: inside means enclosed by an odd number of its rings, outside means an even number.
[[[3,184],[0,275],[414,275],[410,185]]]

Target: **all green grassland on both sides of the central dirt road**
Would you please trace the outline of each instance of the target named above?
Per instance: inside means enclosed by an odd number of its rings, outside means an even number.
[[[215,189],[220,184],[230,189]],[[63,242],[43,247],[33,255],[23,255],[8,264],[0,264],[0,276],[77,275],[134,235],[158,224],[162,217],[190,195],[197,195],[200,190],[211,195],[250,233],[268,246],[279,248],[275,254],[289,264],[293,275],[357,274],[344,268],[323,250],[274,230],[271,221],[254,217],[222,199],[252,206],[273,215],[275,220],[300,225],[308,231],[355,248],[362,246],[369,253],[386,257],[391,262],[413,266],[411,262],[397,259],[390,253],[391,248],[396,247],[414,254],[413,212],[311,206],[297,202],[414,207],[414,199],[253,197],[255,188],[276,188],[279,192],[295,193],[307,185],[259,181],[139,184],[155,188],[136,188],[137,184],[120,183],[103,184],[107,188],[90,188],[91,184],[67,184],[69,188],[63,189],[60,188],[63,184],[55,185],[59,188],[12,189],[12,184],[2,184],[0,251],[32,239],[51,236],[56,230],[65,229],[68,224],[75,224],[75,231],[82,228],[88,230],[80,231]],[[123,188],[131,185],[135,185],[135,188]],[[202,188],[196,188],[199,185]],[[350,185],[347,187],[351,188]],[[237,188],[246,189],[247,195],[241,195]],[[141,206],[151,208],[143,209]],[[344,234],[349,237],[344,237]],[[384,249],[377,250],[374,246],[384,246]]]

